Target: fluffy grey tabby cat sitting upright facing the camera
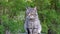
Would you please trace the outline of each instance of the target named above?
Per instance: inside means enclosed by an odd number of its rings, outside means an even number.
[[[41,34],[41,24],[38,18],[36,7],[27,8],[24,27],[28,34]]]

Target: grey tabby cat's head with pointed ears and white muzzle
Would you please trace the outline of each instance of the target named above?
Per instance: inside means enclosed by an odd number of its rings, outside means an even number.
[[[28,7],[27,11],[26,11],[26,17],[28,19],[35,19],[36,16],[37,16],[37,9],[36,9],[36,7],[34,7],[34,8]]]

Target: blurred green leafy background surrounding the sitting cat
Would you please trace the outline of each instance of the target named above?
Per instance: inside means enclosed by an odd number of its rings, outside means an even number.
[[[37,7],[44,34],[60,34],[60,0],[0,0],[0,34],[24,33],[26,7]]]

